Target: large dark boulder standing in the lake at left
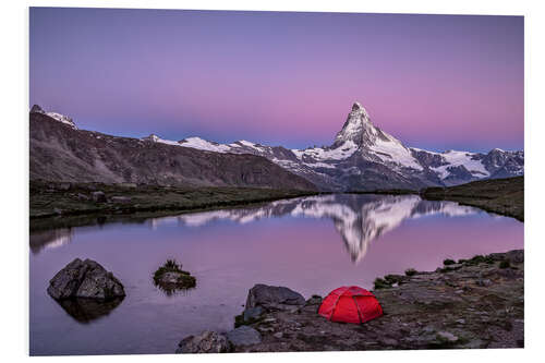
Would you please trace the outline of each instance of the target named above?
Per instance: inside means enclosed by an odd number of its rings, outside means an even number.
[[[86,298],[110,300],[122,298],[125,291],[121,282],[102,266],[92,259],[75,258],[49,281],[47,292],[57,300]]]

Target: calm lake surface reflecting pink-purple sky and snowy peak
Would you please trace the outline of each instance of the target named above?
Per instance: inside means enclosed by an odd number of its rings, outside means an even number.
[[[523,247],[523,223],[414,195],[326,195],[144,223],[31,235],[31,354],[172,353],[202,330],[229,330],[255,283],[305,298],[346,285],[367,289],[386,274],[432,270],[443,259]],[[75,257],[124,285],[117,306],[63,308],[46,289]],[[166,295],[153,273],[175,258],[197,288]]]

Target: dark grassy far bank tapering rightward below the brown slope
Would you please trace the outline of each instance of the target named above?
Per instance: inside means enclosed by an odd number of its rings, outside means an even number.
[[[266,187],[182,187],[153,184],[31,181],[31,221],[62,216],[116,216],[184,213],[323,194]],[[51,220],[53,222],[53,220]],[[48,221],[48,223],[50,223]]]

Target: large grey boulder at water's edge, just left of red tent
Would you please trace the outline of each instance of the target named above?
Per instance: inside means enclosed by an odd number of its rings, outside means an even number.
[[[303,306],[305,299],[299,292],[284,287],[258,283],[250,289],[245,308],[262,306],[266,310],[290,310]]]

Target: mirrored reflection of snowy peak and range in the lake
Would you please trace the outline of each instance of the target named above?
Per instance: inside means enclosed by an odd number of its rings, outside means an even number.
[[[153,228],[178,222],[189,227],[205,226],[215,220],[249,223],[270,217],[327,218],[344,242],[352,262],[361,261],[370,243],[399,227],[405,219],[443,214],[449,217],[481,213],[453,202],[424,201],[417,195],[329,194],[272,202],[263,206],[211,210],[175,217],[155,218]]]

